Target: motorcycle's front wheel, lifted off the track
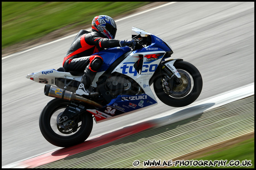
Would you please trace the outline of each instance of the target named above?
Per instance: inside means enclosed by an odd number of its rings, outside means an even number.
[[[193,103],[200,95],[203,80],[198,69],[186,61],[175,61],[174,67],[181,78],[167,75],[162,70],[154,79],[156,96],[171,107],[184,107]]]

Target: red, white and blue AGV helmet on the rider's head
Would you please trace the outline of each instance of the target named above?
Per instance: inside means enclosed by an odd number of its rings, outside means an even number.
[[[114,19],[106,16],[99,15],[92,20],[92,31],[100,32],[109,39],[114,39],[116,36],[117,26]]]

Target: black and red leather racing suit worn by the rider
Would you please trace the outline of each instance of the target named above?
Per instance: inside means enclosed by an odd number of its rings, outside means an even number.
[[[83,34],[71,44],[64,58],[63,67],[66,71],[84,71],[81,83],[89,88],[103,63],[102,57],[92,54],[112,47],[120,47],[119,40],[104,38],[98,32]]]

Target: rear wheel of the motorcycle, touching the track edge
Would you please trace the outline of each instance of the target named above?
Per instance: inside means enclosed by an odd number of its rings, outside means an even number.
[[[91,134],[93,120],[92,114],[83,112],[72,118],[72,126],[64,128],[57,121],[69,101],[54,98],[44,107],[39,117],[39,128],[44,138],[58,147],[70,147],[84,142]],[[68,121],[67,121],[68,122]]]

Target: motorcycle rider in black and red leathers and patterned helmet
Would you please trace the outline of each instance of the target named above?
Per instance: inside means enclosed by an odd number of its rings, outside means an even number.
[[[103,58],[94,53],[113,47],[134,47],[134,40],[114,40],[117,31],[113,18],[100,15],[92,20],[92,32],[83,34],[71,44],[63,61],[66,71],[84,71],[81,84],[76,90],[76,95],[90,96],[88,91],[97,70],[100,69]]]

